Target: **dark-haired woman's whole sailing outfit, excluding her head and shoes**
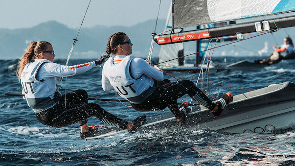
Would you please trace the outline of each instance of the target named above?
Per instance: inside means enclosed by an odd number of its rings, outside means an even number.
[[[170,82],[163,79],[160,69],[157,70],[143,59],[130,55],[116,55],[105,62],[102,87],[105,91],[114,89],[137,111],[162,110],[168,107],[176,118],[181,116],[177,99],[185,94],[210,110],[215,107],[215,103],[193,82]]]

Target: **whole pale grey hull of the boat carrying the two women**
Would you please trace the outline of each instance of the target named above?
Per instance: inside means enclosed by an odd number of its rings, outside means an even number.
[[[203,106],[191,108],[184,128],[211,129],[228,133],[270,132],[290,127],[295,118],[295,84],[285,82],[248,93],[234,95],[220,117],[214,117]],[[164,119],[170,119],[162,121]],[[159,121],[159,123],[157,123]],[[141,130],[174,130],[179,128],[170,113],[147,119],[155,124]]]

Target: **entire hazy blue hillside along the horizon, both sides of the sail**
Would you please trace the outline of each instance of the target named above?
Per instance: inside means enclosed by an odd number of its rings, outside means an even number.
[[[107,41],[114,32],[122,31],[128,34],[133,45],[133,55],[147,57],[151,32],[154,31],[156,20],[146,21],[134,26],[101,26],[92,28],[82,26],[78,36],[71,58],[96,58],[104,54]],[[159,20],[157,33],[163,31],[165,20]],[[66,25],[50,21],[39,24],[32,28],[22,29],[0,29],[0,59],[16,59],[23,55],[24,48],[31,41],[48,41],[53,45],[56,58],[67,58],[68,52],[72,46],[73,40],[77,35],[78,29],[68,28]],[[281,29],[273,34],[262,35],[234,45],[216,48],[214,56],[266,56],[273,49],[272,46],[283,44],[283,38],[290,35],[295,39],[295,27]],[[249,36],[246,36],[248,38]],[[275,42],[276,41],[276,42]],[[226,43],[217,43],[216,46]],[[184,45],[184,54],[196,52],[196,42],[187,42]],[[159,46],[155,43],[153,56],[159,53]],[[190,56],[188,58],[193,58]]]

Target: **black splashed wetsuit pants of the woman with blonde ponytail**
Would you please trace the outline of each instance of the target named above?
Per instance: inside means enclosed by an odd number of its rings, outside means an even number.
[[[116,128],[126,129],[128,125],[128,121],[115,117],[98,104],[88,103],[88,94],[84,90],[67,93],[67,105],[63,95],[55,106],[36,113],[36,117],[41,123],[53,127],[64,127],[77,122],[82,126],[90,117],[96,117]]]

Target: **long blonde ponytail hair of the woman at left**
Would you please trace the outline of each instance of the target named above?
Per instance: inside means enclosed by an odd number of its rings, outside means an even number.
[[[23,72],[24,66],[29,62],[34,62],[35,59],[38,58],[39,54],[42,51],[45,51],[48,46],[51,45],[49,42],[39,41],[39,42],[31,42],[29,46],[26,48],[25,53],[23,54],[22,60],[19,62],[17,77],[20,80],[21,74]]]

